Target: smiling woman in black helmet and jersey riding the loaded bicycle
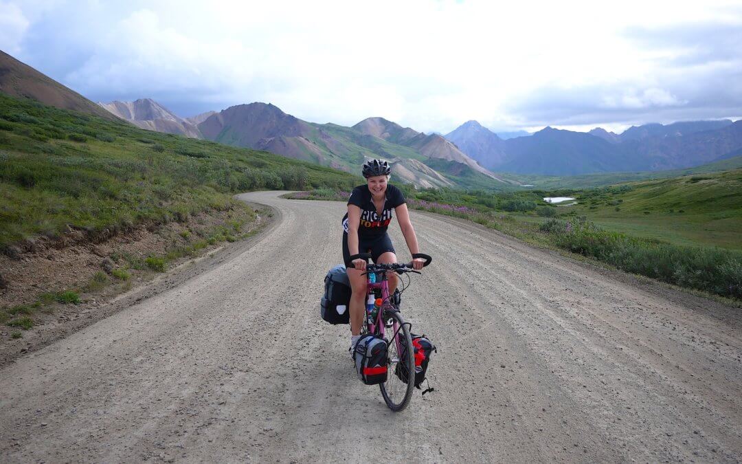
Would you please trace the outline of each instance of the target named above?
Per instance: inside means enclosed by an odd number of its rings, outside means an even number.
[[[388,184],[392,169],[387,161],[370,160],[364,163],[363,174],[366,184],[355,187],[348,199],[348,212],[343,217],[343,259],[347,267],[352,295],[350,297],[350,352],[361,334],[364,321],[364,305],[367,295],[366,261],[360,253],[370,253],[375,264],[397,262],[394,246],[387,234],[387,226],[392,221],[392,210],[397,212],[399,227],[407,242],[410,253],[418,249],[417,236],[404,195],[395,186]],[[413,267],[422,269],[425,260],[413,259]],[[394,293],[398,278],[389,275],[389,291]]]

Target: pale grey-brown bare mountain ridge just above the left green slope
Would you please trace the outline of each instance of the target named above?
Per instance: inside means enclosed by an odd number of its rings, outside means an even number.
[[[203,138],[197,125],[178,117],[160,103],[150,98],[137,99],[134,102],[109,103],[98,102],[102,108],[115,114],[122,120],[127,120],[142,129],[165,132],[168,134],[185,135],[191,138]]]

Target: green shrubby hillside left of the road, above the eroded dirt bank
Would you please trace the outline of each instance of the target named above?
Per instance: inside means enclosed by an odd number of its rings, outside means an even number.
[[[358,177],[145,131],[0,94],[0,248],[68,225],[95,234],[225,208],[254,189],[347,189]]]

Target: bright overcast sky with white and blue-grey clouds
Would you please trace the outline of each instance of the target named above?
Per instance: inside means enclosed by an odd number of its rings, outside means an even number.
[[[0,0],[0,49],[93,101],[183,117],[255,101],[442,133],[742,117],[740,0]]]

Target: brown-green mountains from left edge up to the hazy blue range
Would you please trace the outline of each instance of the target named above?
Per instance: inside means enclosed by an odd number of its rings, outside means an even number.
[[[393,163],[395,177],[421,188],[487,187],[506,182],[479,166],[444,137],[403,130],[381,118],[370,118],[359,123],[358,128],[349,128],[299,120],[275,105],[260,102],[190,118],[178,117],[153,99],[96,104],[2,52],[0,91],[57,108],[127,121],[151,131],[271,151],[350,172],[357,172],[365,158],[382,157]],[[387,135],[375,134],[369,128],[374,122],[390,131],[407,132],[409,140],[397,140],[401,143],[386,140]]]

